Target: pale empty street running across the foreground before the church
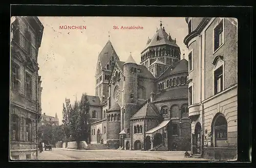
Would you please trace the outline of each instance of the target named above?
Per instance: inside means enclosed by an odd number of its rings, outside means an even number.
[[[203,158],[185,158],[182,151],[150,152],[130,150],[73,150],[53,148],[38,153],[38,160],[156,160],[156,161],[204,161]]]

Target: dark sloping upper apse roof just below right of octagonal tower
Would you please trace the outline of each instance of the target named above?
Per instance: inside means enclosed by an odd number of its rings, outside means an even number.
[[[172,74],[177,74],[181,72],[188,72],[188,62],[186,59],[182,59],[176,63],[174,63],[172,66],[168,67],[162,75],[160,75],[158,78],[162,79]]]

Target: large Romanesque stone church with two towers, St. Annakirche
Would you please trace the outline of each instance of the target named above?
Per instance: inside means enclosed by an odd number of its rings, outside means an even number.
[[[141,52],[120,61],[108,41],[98,57],[91,144],[124,150],[189,150],[187,60],[162,23]],[[94,104],[94,105],[92,105]],[[100,109],[99,109],[100,107]]]

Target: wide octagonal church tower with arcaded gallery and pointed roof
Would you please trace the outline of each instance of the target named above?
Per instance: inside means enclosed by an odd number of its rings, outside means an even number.
[[[172,39],[170,33],[167,34],[162,21],[160,28],[152,39],[148,37],[145,49],[141,52],[141,64],[157,78],[170,65],[180,60],[180,47],[176,44],[176,39]]]

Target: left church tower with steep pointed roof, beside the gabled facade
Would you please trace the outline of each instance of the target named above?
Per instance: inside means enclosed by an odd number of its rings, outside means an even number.
[[[114,69],[115,61],[119,60],[115,49],[110,42],[106,42],[102,51],[98,56],[97,68],[96,68],[96,87],[95,95],[100,98],[101,104],[105,103],[109,97],[109,81],[112,71]]]

